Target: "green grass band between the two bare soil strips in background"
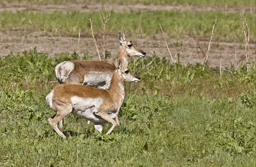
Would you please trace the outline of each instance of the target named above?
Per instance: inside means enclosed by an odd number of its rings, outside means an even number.
[[[112,13],[107,29],[110,30],[114,23],[112,32],[122,30],[134,34],[137,32],[141,12]],[[142,12],[142,24],[140,33],[146,36],[161,35],[159,23],[169,38],[179,39],[184,35],[209,40],[212,26],[217,16],[214,40],[243,42],[241,22],[239,13],[216,13],[216,12],[176,12],[157,11]],[[71,11],[67,13],[52,12],[8,12],[0,13],[0,30],[22,30],[27,32],[45,31],[55,36],[73,35],[78,36],[81,29],[82,36],[91,36],[89,18],[93,20],[95,36],[102,33],[102,23],[98,12],[83,13]],[[132,19],[131,19],[132,18]],[[250,29],[250,42],[255,42],[255,15],[247,13],[248,27]]]

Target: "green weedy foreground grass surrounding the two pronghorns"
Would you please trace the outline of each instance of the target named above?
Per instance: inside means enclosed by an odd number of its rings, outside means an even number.
[[[47,121],[54,111],[45,96],[57,85],[56,64],[79,58],[36,50],[1,58],[1,166],[255,166],[255,65],[219,75],[155,58],[141,82],[125,84],[112,134],[69,115],[63,139]]]

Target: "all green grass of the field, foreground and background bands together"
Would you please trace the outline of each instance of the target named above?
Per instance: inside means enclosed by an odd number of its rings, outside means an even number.
[[[249,0],[243,4],[238,0],[115,2],[255,8],[255,2]],[[214,41],[238,42],[244,50],[239,12],[112,12],[107,29],[115,22],[113,32],[125,29],[134,35],[141,14],[143,37],[162,35],[161,23],[167,38],[182,41],[196,36],[207,42],[217,16]],[[247,11],[244,17],[249,42],[255,42],[255,13]],[[81,36],[91,36],[88,18],[93,20],[95,37],[102,38],[98,11],[3,11],[0,31],[25,32],[25,40],[26,34],[35,31],[44,31],[45,36],[77,36],[79,28]],[[55,112],[47,107],[45,97],[58,85],[54,75],[57,63],[90,60],[90,55],[64,52],[51,57],[35,48],[20,53],[10,50],[9,55],[0,57],[0,166],[255,166],[255,60],[249,70],[244,63],[236,69],[230,62],[231,67],[220,73],[219,67],[202,70],[200,63],[185,66],[157,56],[136,62],[131,58],[129,69],[142,80],[125,83],[120,126],[104,135],[111,126],[106,124],[99,134],[93,124],[68,115],[67,125],[61,129],[67,139],[58,136],[47,121]]]

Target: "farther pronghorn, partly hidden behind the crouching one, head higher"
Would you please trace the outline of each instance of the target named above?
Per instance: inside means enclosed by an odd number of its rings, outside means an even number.
[[[127,42],[125,40],[125,32],[123,32],[123,36],[120,33],[118,34],[118,40],[120,46],[114,62],[64,61],[55,67],[57,80],[60,84],[86,85],[108,89],[113,71],[117,68],[119,60],[122,60],[122,67],[127,68],[129,56],[146,56],[144,51],[132,45],[132,41]],[[62,122],[65,122],[65,119],[60,121],[60,127],[63,126]]]

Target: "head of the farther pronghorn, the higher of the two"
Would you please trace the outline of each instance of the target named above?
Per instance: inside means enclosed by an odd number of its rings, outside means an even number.
[[[121,35],[120,32],[118,33],[118,40],[124,52],[127,53],[128,56],[138,56],[138,57],[146,56],[146,52],[132,45],[132,41],[130,42],[125,41],[125,32],[123,32],[123,36]]]

